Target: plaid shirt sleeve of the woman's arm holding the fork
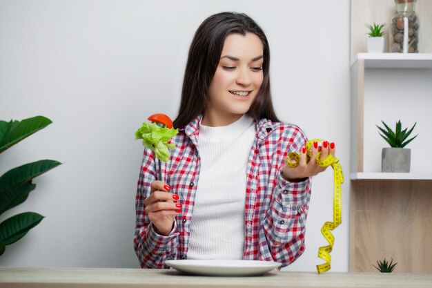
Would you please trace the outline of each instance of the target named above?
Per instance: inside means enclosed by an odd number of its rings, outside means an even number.
[[[134,236],[134,248],[142,268],[168,268],[164,264],[165,260],[175,259],[177,256],[177,222],[174,222],[173,230],[168,236],[161,236],[155,231],[144,211],[144,200],[150,195],[150,184],[155,180],[155,174],[154,154],[145,148],[135,198],[137,219]]]

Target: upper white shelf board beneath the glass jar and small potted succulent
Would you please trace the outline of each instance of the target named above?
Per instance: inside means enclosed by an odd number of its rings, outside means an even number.
[[[432,53],[358,53],[364,68],[426,68],[432,69]]]

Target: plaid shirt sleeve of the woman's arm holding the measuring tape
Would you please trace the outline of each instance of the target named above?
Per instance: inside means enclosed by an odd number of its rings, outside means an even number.
[[[304,252],[304,234],[308,202],[311,198],[311,177],[302,182],[288,182],[282,177],[282,168],[286,155],[291,151],[300,151],[307,142],[306,136],[297,126],[288,126],[279,137],[277,164],[279,172],[274,179],[271,200],[264,218],[262,229],[267,242],[267,253],[285,267]],[[277,153],[277,152],[276,152]],[[273,184],[273,183],[272,183]],[[260,233],[260,234],[261,234]]]

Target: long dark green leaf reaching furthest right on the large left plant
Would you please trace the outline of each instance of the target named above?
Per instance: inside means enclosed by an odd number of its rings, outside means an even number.
[[[0,177],[0,191],[6,191],[23,182],[28,182],[60,164],[55,160],[39,160],[14,168]]]

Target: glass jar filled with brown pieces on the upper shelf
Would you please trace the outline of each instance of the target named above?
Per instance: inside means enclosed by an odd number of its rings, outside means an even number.
[[[420,18],[417,0],[395,0],[396,15],[391,18],[390,52],[418,53]]]

